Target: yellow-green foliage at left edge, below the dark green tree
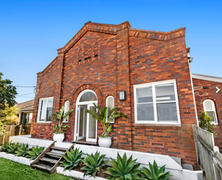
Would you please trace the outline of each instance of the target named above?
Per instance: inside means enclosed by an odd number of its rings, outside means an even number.
[[[15,125],[18,123],[18,116],[19,108],[16,106],[9,107],[9,104],[5,102],[5,108],[0,110],[0,119],[5,124],[8,125]]]

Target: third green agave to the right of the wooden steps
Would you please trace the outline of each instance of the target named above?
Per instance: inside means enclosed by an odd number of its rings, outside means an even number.
[[[136,160],[132,159],[132,156],[130,156],[129,159],[127,159],[126,153],[124,153],[123,157],[117,154],[117,161],[111,158],[110,164],[112,167],[108,167],[107,171],[105,171],[106,174],[109,174],[110,176],[108,179],[116,180],[137,180],[141,179],[138,174],[140,173],[140,170],[138,169],[140,164],[136,164]]]

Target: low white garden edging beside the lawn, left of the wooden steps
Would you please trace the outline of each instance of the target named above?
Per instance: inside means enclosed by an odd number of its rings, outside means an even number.
[[[33,160],[30,160],[26,157],[21,157],[21,156],[15,156],[14,154],[8,154],[5,152],[0,152],[0,157],[5,158],[14,162],[18,162],[27,166],[30,166],[30,164],[33,162]]]

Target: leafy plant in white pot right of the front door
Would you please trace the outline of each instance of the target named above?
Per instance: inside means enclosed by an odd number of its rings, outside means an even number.
[[[103,128],[103,133],[99,137],[99,146],[101,147],[110,147],[111,146],[111,137],[109,137],[109,133],[112,131],[112,124],[110,123],[113,119],[118,117],[124,117],[128,119],[127,115],[117,111],[120,107],[113,108],[108,114],[108,108],[104,109],[101,106],[95,106],[95,110],[87,110],[86,112],[91,114],[95,120],[98,120]]]

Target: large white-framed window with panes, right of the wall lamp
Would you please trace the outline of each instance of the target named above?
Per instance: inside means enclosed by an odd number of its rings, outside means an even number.
[[[179,124],[176,81],[134,85],[135,123]]]

